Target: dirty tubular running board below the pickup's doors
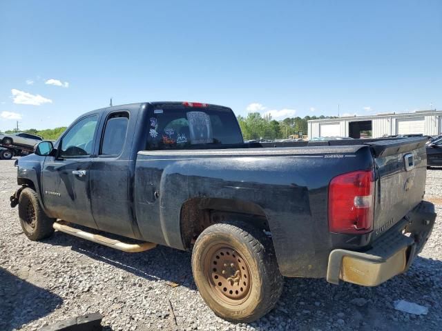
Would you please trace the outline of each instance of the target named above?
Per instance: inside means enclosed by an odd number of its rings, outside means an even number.
[[[117,250],[122,250],[123,252],[136,253],[144,252],[145,250],[151,250],[156,247],[156,243],[123,243],[122,241],[103,237],[99,234],[93,234],[83,230],[73,228],[71,226],[55,222],[53,225],[55,230],[65,232],[67,234],[72,234],[75,237],[86,239],[88,241],[93,241],[94,243],[101,243],[102,245],[115,248]]]

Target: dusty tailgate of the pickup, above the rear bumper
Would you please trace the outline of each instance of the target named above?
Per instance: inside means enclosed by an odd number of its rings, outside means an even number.
[[[367,143],[376,168],[374,237],[400,221],[423,199],[426,177],[426,138]]]

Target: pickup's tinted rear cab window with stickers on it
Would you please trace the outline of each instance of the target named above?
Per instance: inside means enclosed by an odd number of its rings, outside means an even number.
[[[238,121],[227,108],[155,109],[147,150],[191,149],[242,143]]]

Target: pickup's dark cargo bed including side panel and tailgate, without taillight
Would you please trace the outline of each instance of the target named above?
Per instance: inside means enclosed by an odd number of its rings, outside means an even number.
[[[425,188],[425,141],[296,141],[244,144],[249,145],[246,148],[140,151],[135,165],[140,231],[148,241],[183,249],[176,220],[189,201],[206,210],[246,208],[269,221],[282,274],[324,277],[332,249],[368,250],[420,203]],[[403,157],[409,152],[416,161],[412,172],[404,169]],[[327,226],[330,181],[366,169],[376,172],[374,231],[357,236],[331,234]],[[408,178],[414,179],[414,186],[406,192],[403,183]]]

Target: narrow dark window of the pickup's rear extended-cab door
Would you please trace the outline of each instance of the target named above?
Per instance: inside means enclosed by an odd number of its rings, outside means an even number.
[[[124,142],[126,141],[128,123],[129,114],[127,112],[111,114],[104,128],[100,155],[117,156],[122,153]]]

